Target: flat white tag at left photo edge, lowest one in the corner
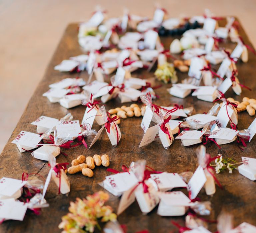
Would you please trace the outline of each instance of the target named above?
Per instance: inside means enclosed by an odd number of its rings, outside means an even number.
[[[23,221],[28,204],[14,198],[0,201],[0,218]]]

